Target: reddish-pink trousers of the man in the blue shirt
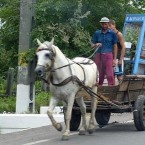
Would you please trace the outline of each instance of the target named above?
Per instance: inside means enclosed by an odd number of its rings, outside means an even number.
[[[99,85],[103,85],[105,76],[109,86],[115,85],[112,52],[96,53],[95,63],[99,71]]]

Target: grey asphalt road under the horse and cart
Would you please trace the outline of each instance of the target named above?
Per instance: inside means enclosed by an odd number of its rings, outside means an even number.
[[[64,125],[64,124],[63,124]],[[61,141],[61,132],[52,126],[0,135],[0,145],[145,145],[145,131],[137,131],[132,114],[113,114],[109,125],[94,134],[71,132],[70,140]]]

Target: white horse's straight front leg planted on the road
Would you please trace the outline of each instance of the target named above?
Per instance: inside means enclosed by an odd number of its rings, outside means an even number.
[[[74,95],[69,96],[68,101],[67,101],[67,107],[66,107],[66,113],[65,113],[66,128],[65,128],[64,133],[62,135],[62,140],[68,140],[69,139],[70,120],[71,120],[71,113],[72,113],[73,104],[74,104]]]

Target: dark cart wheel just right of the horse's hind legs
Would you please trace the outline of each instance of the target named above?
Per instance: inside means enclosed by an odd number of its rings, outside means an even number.
[[[97,112],[96,111],[95,118],[100,127],[108,124],[110,115],[111,115],[111,112],[107,112],[107,111]]]

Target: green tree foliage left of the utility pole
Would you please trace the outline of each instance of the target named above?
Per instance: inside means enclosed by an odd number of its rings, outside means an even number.
[[[0,0],[0,75],[5,75],[9,67],[17,66],[19,41],[19,0]]]

